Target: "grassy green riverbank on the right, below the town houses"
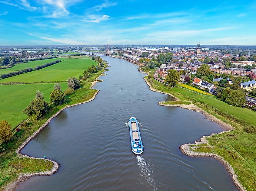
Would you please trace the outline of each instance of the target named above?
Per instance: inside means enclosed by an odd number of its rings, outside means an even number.
[[[230,106],[214,97],[195,94],[179,87],[170,88],[152,78],[148,79],[148,82],[154,89],[172,94],[180,99],[177,104],[191,102],[221,121],[234,126],[235,129],[231,132],[209,137],[209,145],[213,147],[201,147],[196,151],[215,153],[223,157],[233,167],[243,186],[248,190],[255,191],[256,134],[247,133],[244,128],[256,126],[256,112]],[[175,104],[175,102],[166,104]]]

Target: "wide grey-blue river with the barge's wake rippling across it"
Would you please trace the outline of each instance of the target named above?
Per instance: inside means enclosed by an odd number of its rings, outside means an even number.
[[[197,112],[158,105],[170,96],[153,92],[137,66],[108,56],[100,90],[88,103],[66,108],[22,153],[60,163],[52,176],[34,176],[16,190],[238,190],[213,158],[194,158],[179,146],[223,131]],[[136,117],[144,152],[131,151],[126,123]]]

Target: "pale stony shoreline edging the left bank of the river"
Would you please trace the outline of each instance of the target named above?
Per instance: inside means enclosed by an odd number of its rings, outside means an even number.
[[[101,74],[101,75],[98,76],[98,78],[99,78],[100,76],[102,76],[102,75],[106,75],[106,74]],[[97,78],[97,79],[98,79],[98,78]],[[102,82],[102,81],[103,81],[103,80],[95,80],[95,81],[91,82],[91,83],[92,83],[91,87],[93,87],[93,86],[95,85],[95,83],[97,83],[97,82]],[[91,88],[91,87],[90,87],[90,88]],[[55,117],[56,117],[60,112],[62,112],[65,108],[69,108],[69,107],[72,107],[72,106],[75,106],[75,105],[80,105],[80,104],[83,104],[83,103],[90,102],[90,101],[92,101],[93,99],[95,99],[95,97],[96,97],[96,95],[98,94],[98,92],[99,92],[99,90],[97,90],[97,92],[93,95],[93,97],[92,97],[91,99],[89,99],[89,100],[87,100],[87,101],[85,101],[85,102],[76,103],[76,104],[73,104],[73,105],[66,105],[64,108],[60,109],[57,113],[55,113],[52,117],[50,117],[47,121],[45,121],[45,123],[44,123],[37,131],[35,131],[30,137],[28,137],[27,140],[26,140],[25,142],[23,142],[23,143],[19,146],[19,148],[16,150],[16,153],[17,153],[18,157],[20,157],[20,158],[25,158],[25,157],[26,157],[26,158],[30,158],[30,159],[42,159],[42,160],[44,160],[44,158],[35,158],[35,157],[31,157],[31,156],[29,156],[29,155],[22,154],[22,153],[21,153],[21,150],[22,150],[33,138],[35,138],[35,137],[37,136],[37,134],[38,134],[40,131],[42,131],[43,128],[44,128],[45,126],[47,126],[53,118],[55,118]],[[59,168],[59,166],[60,166],[59,163],[56,162],[56,161],[54,161],[54,160],[51,160],[51,159],[46,159],[46,160],[48,160],[48,161],[50,161],[50,162],[53,163],[53,167],[52,167],[51,170],[49,170],[49,171],[44,171],[44,172],[38,172],[38,173],[22,173],[22,174],[20,174],[20,175],[18,176],[18,178],[17,178],[15,181],[12,181],[12,182],[9,183],[8,185],[6,185],[6,186],[3,188],[3,190],[5,190],[5,191],[13,191],[13,190],[15,190],[15,188],[18,186],[19,183],[28,180],[28,179],[29,179],[30,177],[32,177],[32,176],[42,176],[42,175],[44,175],[44,176],[49,176],[49,175],[52,175],[52,174],[56,173],[57,170],[58,170],[58,168]]]

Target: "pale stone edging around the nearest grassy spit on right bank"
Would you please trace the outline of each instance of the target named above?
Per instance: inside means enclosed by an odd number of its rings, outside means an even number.
[[[190,156],[190,157],[213,157],[217,160],[219,160],[224,167],[228,170],[228,173],[231,175],[231,179],[233,180],[234,184],[238,187],[239,190],[241,191],[245,191],[246,189],[244,188],[244,186],[238,181],[237,179],[237,175],[234,172],[234,169],[231,167],[231,165],[225,161],[221,156],[219,156],[218,154],[214,154],[214,153],[201,153],[201,152],[195,152],[192,151],[190,149],[191,145],[200,145],[200,144],[208,144],[208,140],[206,139],[207,137],[210,137],[212,135],[215,134],[222,134],[222,133],[226,133],[226,132],[230,132],[232,130],[228,130],[228,131],[222,131],[220,133],[212,133],[211,135],[208,136],[203,136],[200,138],[200,141],[195,141],[195,143],[188,143],[188,144],[183,144],[180,146],[180,150],[183,154]]]

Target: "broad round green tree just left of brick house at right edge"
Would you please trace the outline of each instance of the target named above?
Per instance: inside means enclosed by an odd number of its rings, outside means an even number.
[[[246,100],[244,98],[244,93],[239,90],[231,90],[226,98],[226,102],[230,105],[234,106],[244,106]]]

